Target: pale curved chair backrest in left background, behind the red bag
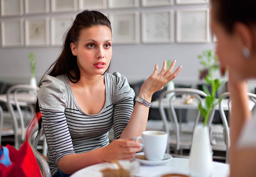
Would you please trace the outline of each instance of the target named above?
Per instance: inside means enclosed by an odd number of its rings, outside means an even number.
[[[9,112],[12,115],[13,119],[13,129],[14,129],[14,146],[16,149],[19,148],[19,139],[18,139],[18,120],[13,108],[13,105],[16,106],[19,118],[20,118],[20,128],[21,128],[21,139],[25,140],[25,125],[24,125],[24,119],[23,119],[23,114],[20,109],[20,100],[17,98],[18,92],[26,92],[26,94],[34,94],[36,95],[37,88],[31,87],[30,85],[25,85],[25,84],[18,84],[10,87],[7,90],[7,107]],[[24,104],[24,102],[23,102]]]

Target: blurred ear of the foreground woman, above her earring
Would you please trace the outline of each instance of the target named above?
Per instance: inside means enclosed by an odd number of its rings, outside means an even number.
[[[246,47],[252,52],[255,45],[252,29],[244,23],[237,22],[234,26],[234,33],[238,37],[242,47]]]

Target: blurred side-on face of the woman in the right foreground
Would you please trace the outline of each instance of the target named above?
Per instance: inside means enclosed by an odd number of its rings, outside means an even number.
[[[219,23],[216,19],[214,4],[211,8],[211,27],[217,38],[216,54],[220,60],[220,65],[236,71],[241,77],[245,77],[248,59],[243,55],[244,46],[241,38],[236,32],[228,33]]]

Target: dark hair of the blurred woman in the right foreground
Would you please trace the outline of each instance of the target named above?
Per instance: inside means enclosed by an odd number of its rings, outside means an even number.
[[[248,26],[256,24],[256,1],[254,0],[211,0],[214,6],[217,21],[232,33],[236,22],[242,22]]]

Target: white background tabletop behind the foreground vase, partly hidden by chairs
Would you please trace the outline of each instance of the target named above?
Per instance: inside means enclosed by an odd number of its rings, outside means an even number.
[[[163,106],[164,108],[169,108],[169,99],[162,99],[163,100]],[[218,99],[216,99],[216,101],[218,101]],[[228,99],[223,99],[222,100],[223,103],[223,110],[224,111],[228,111]],[[205,98],[202,98],[202,105],[205,105]],[[151,104],[151,108],[158,108],[159,107],[159,101],[153,101]],[[175,100],[173,100],[173,107],[175,109],[198,109],[198,101],[197,99],[195,99],[194,102],[190,103],[190,104],[186,104],[184,103],[184,100],[180,97],[176,97]],[[249,107],[250,110],[252,110],[252,108],[254,107],[254,103],[249,100]],[[215,110],[219,110],[219,104],[217,104],[215,106]]]

